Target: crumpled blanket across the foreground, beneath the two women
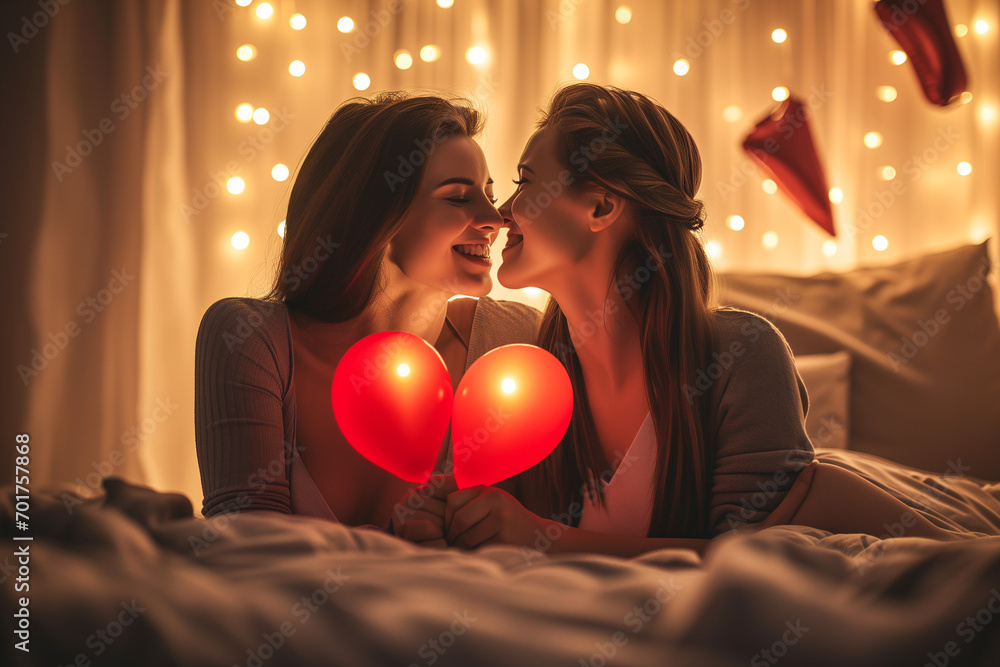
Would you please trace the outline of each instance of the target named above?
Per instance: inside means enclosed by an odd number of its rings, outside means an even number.
[[[2,664],[1000,664],[1000,538],[780,526],[717,538],[704,559],[468,552],[275,512],[194,518],[187,498],[118,479],[105,491],[32,496],[28,592],[0,494]],[[14,648],[21,596],[30,653]]]

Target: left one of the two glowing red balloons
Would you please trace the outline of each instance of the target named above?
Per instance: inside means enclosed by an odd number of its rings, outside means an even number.
[[[362,456],[408,482],[434,471],[451,418],[451,376],[424,339],[402,331],[366,336],[333,374],[333,415]]]

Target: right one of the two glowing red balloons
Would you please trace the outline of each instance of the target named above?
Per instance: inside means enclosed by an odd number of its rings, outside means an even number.
[[[558,359],[534,345],[490,350],[455,393],[455,483],[490,485],[527,470],[556,448],[572,413],[573,386]]]

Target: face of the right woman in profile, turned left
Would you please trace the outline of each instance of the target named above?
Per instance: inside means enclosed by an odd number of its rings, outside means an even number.
[[[532,135],[518,164],[517,191],[500,207],[510,228],[497,279],[510,289],[551,291],[594,243],[593,197],[567,187],[578,172],[560,163],[556,138],[548,128]]]

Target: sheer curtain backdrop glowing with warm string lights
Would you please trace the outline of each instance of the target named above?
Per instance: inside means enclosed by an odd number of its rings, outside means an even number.
[[[698,142],[705,238],[723,271],[891,262],[1000,227],[1000,17],[988,0],[946,3],[951,23],[967,26],[957,41],[972,92],[946,109],[923,99],[909,63],[890,62],[896,45],[868,0],[269,4],[273,14],[260,18],[258,0],[68,3],[5,70],[23,86],[21,103],[45,110],[44,127],[36,121],[29,135],[35,151],[45,146],[44,160],[10,160],[19,180],[4,186],[25,217],[0,230],[9,234],[0,255],[9,256],[4,270],[14,281],[5,287],[16,297],[2,354],[18,400],[4,407],[5,433],[31,435],[35,483],[88,491],[117,474],[200,505],[193,354],[201,315],[224,296],[265,291],[295,168],[330,113],[354,95],[435,89],[477,100],[488,115],[482,145],[505,198],[537,110],[574,80],[575,66],[586,65],[592,81],[645,92]],[[623,5],[627,23],[616,20]],[[37,3],[8,6],[10,30],[37,11]],[[297,13],[302,30],[289,23]],[[353,31],[338,30],[342,17]],[[976,21],[985,22],[982,34]],[[776,28],[786,42],[772,41]],[[253,46],[253,59],[237,59],[241,45]],[[429,45],[440,56],[425,62],[419,54]],[[475,46],[481,64],[466,58]],[[413,60],[405,70],[395,65],[401,50]],[[678,59],[689,67],[683,76]],[[296,60],[305,67],[299,77],[288,69]],[[44,75],[26,74],[43,67]],[[355,88],[358,74],[370,80],[366,90]],[[829,185],[843,196],[832,255],[823,252],[824,232],[761,189],[758,170],[740,175],[742,139],[776,105],[777,86],[819,100],[812,132]],[[895,100],[879,99],[880,86],[892,86]],[[241,104],[269,118],[242,122]],[[30,130],[31,118],[17,116],[18,127]],[[102,130],[103,119],[113,129]],[[882,143],[867,148],[863,137],[873,131]],[[88,154],[77,162],[74,151]],[[963,161],[967,176],[957,171]],[[279,163],[288,180],[272,177]],[[899,194],[883,180],[885,166],[896,170]],[[232,177],[243,180],[240,194],[226,189]],[[743,229],[727,226],[731,215],[745,220]],[[234,246],[238,232],[245,248]],[[772,248],[761,243],[766,232],[776,235]],[[888,242],[883,251],[872,246],[877,234]],[[493,296],[539,307],[545,298],[499,285]],[[78,331],[65,333],[71,324]],[[31,368],[35,350],[44,368],[24,380],[15,369]]]

